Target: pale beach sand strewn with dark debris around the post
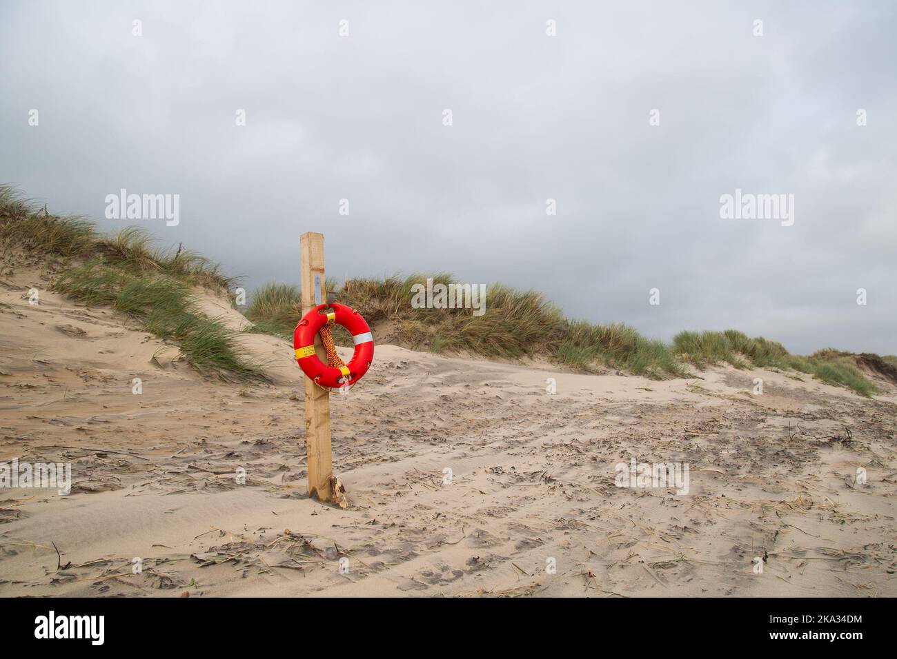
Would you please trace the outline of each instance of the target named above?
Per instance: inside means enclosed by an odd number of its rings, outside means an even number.
[[[331,396],[343,510],[306,493],[291,345],[244,335],[270,384],[204,377],[38,270],[0,280],[0,462],[74,475],[68,496],[0,490],[0,595],[897,594],[893,387],[866,399],[731,368],[658,382],[378,344]],[[616,487],[631,457],[689,464],[688,493]]]

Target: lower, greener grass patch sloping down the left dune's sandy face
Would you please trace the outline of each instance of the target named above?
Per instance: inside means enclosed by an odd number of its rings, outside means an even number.
[[[53,289],[89,305],[104,305],[138,319],[146,330],[179,343],[195,366],[259,377],[239,356],[235,333],[196,308],[187,283],[170,274],[133,274],[100,256],[61,273]]]

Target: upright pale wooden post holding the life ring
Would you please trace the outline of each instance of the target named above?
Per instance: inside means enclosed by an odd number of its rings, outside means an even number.
[[[324,283],[324,234],[303,233],[299,239],[302,292],[302,315],[327,301]],[[327,351],[321,338],[315,335],[318,357],[327,363]],[[316,385],[309,377],[305,381],[305,450],[309,466],[309,496],[329,502],[333,496],[330,481],[333,462],[330,455],[330,392]]]

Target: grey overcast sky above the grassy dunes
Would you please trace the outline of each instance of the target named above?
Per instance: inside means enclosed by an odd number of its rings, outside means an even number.
[[[897,353],[897,3],[0,0],[0,182],[250,290],[298,282],[315,230],[341,280]],[[179,225],[107,220],[120,188]],[[736,188],[793,225],[722,219]]]

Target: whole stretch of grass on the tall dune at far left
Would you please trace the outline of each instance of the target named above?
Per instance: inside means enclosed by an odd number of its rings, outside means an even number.
[[[58,259],[52,287],[91,305],[108,305],[138,319],[145,329],[179,344],[199,369],[262,377],[239,355],[236,334],[195,304],[190,288],[228,290],[234,282],[205,256],[182,247],[155,247],[140,227],[111,235],[82,217],[52,215],[0,186],[0,244]]]

